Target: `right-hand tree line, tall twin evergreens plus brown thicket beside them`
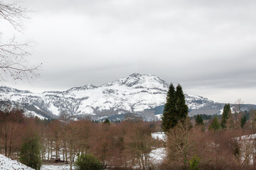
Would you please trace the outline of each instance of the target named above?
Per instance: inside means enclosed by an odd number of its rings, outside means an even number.
[[[228,103],[222,115],[189,118],[184,100],[181,86],[171,84],[162,118],[167,154],[159,169],[255,169],[256,111],[232,114]]]

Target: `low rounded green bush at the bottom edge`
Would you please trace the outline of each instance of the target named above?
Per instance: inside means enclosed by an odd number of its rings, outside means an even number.
[[[102,166],[92,154],[81,154],[75,161],[77,170],[101,170]]]

